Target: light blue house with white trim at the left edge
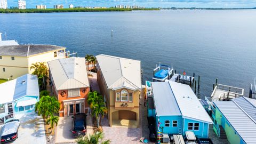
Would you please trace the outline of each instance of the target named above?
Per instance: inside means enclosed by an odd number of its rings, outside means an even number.
[[[2,83],[0,92],[0,121],[35,113],[35,103],[39,101],[36,75],[26,74]]]

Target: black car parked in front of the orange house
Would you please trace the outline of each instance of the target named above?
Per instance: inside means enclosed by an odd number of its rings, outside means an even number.
[[[73,116],[72,133],[75,137],[86,134],[86,114],[80,113]]]

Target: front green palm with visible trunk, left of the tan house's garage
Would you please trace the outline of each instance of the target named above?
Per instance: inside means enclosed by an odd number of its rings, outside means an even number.
[[[100,115],[102,118],[104,118],[104,115],[108,113],[107,108],[105,107],[105,103],[95,103],[92,109],[92,115],[94,115],[97,119],[97,127],[100,126]]]

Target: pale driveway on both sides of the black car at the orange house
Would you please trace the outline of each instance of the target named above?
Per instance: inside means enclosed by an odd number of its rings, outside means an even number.
[[[86,117],[86,122],[87,122],[86,135],[93,134],[91,115],[88,115]],[[57,129],[56,129],[55,143],[73,143],[73,142],[75,142],[76,138],[73,137],[72,129],[73,129],[73,118],[71,116],[60,117],[58,125],[57,125]]]

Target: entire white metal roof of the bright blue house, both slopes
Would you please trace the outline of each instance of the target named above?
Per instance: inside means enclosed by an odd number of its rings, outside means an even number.
[[[189,85],[171,81],[151,84],[157,116],[181,115],[183,118],[213,123]]]

